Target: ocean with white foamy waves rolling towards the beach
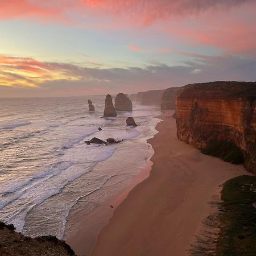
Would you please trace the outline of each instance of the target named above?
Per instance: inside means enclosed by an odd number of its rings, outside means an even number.
[[[63,238],[81,200],[92,213],[131,185],[154,154],[146,141],[157,133],[160,112],[133,102],[133,112],[103,118],[104,104],[105,96],[0,100],[1,221],[29,236]],[[129,116],[138,127],[126,126]],[[93,137],[123,142],[84,143]]]

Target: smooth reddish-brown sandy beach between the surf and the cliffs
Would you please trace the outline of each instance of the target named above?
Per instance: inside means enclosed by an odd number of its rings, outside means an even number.
[[[188,255],[202,221],[213,211],[209,201],[220,194],[220,185],[247,174],[242,166],[203,155],[179,141],[175,119],[166,118],[172,113],[162,115],[159,133],[148,140],[155,150],[150,176],[114,210],[90,255]]]

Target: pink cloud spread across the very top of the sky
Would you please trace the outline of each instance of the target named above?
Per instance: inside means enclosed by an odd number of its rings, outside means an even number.
[[[184,44],[250,54],[256,49],[255,12],[254,0],[2,0],[0,20],[36,19],[96,30],[153,27]]]

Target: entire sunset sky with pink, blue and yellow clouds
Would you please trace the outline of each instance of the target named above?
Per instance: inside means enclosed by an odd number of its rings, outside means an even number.
[[[0,97],[256,81],[256,0],[0,0]]]

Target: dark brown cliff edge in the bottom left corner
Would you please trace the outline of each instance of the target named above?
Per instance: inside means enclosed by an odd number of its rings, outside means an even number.
[[[15,232],[13,225],[0,222],[0,255],[67,256],[75,253],[67,243],[56,237],[25,237]]]

